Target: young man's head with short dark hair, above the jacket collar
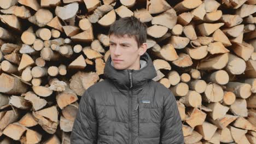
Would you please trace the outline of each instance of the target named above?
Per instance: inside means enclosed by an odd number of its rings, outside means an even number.
[[[115,21],[109,29],[109,50],[114,68],[139,69],[139,58],[147,51],[146,40],[147,26],[136,17]]]

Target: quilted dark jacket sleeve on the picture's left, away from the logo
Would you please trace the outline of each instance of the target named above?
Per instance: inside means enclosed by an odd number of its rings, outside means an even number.
[[[80,100],[78,113],[73,124],[71,143],[97,143],[97,119],[95,113],[95,100],[86,90]]]

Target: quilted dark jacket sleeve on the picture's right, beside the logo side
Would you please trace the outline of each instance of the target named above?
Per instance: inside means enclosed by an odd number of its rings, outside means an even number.
[[[176,99],[171,92],[164,99],[163,117],[160,128],[160,144],[184,143],[182,121]]]

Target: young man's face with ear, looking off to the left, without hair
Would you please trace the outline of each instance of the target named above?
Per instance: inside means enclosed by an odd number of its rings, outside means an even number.
[[[109,36],[109,51],[115,69],[139,69],[139,48],[135,38]]]

